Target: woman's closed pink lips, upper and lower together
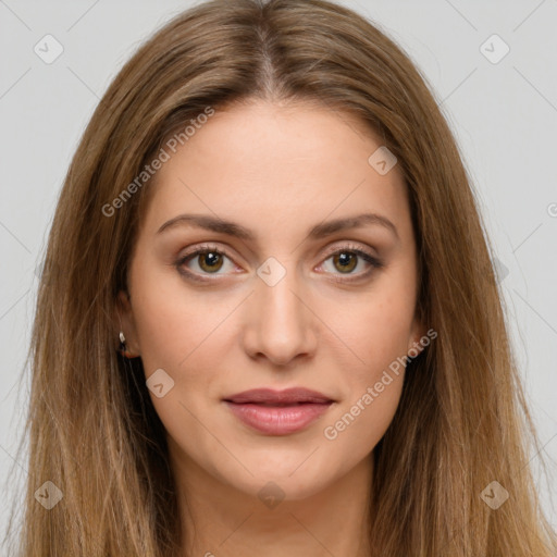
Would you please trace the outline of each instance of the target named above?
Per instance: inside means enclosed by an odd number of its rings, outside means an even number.
[[[242,422],[268,435],[288,435],[307,428],[334,401],[317,391],[256,388],[225,398]]]

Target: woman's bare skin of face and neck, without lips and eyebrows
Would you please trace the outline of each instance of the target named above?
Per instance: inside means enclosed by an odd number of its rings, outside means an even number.
[[[373,515],[371,455],[399,403],[404,369],[335,440],[323,431],[425,331],[414,314],[406,186],[396,165],[380,175],[368,163],[381,145],[348,113],[257,100],[216,111],[158,171],[119,325],[146,377],[163,369],[174,381],[161,398],[149,394],[168,433],[184,555],[372,554],[364,530]],[[257,240],[186,224],[157,233],[186,212],[237,222]],[[314,224],[361,212],[387,218],[398,237],[367,224],[308,238]],[[183,263],[208,278],[195,282],[176,261],[202,243],[225,256]],[[343,273],[330,251],[354,253],[348,246],[383,267],[357,258]],[[286,273],[273,286],[257,274],[269,257]],[[289,435],[249,429],[222,400],[293,386],[335,403]],[[269,481],[284,495],[274,508],[258,496]]]

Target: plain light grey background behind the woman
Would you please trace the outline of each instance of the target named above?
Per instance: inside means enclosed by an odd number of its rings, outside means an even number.
[[[28,371],[21,392],[18,381],[36,267],[72,153],[124,61],[191,3],[0,0],[0,533],[23,490],[7,478]],[[540,491],[557,524],[550,505],[557,491],[557,1],[343,3],[413,59],[457,137],[500,262],[518,361],[552,474]],[[47,34],[64,49],[51,64],[34,52]],[[493,34],[510,48],[495,64],[480,50]],[[492,57],[503,52],[492,44]],[[537,470],[539,455],[531,456]],[[24,460],[15,466],[25,473]]]

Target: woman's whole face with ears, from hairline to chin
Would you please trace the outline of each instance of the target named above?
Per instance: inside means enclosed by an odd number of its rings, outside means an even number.
[[[405,184],[368,161],[381,145],[348,114],[253,101],[158,171],[120,319],[185,475],[300,499],[385,433],[423,329]],[[260,388],[274,398],[236,396]]]

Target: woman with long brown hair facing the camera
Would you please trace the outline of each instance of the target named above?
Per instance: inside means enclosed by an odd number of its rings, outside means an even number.
[[[138,50],[70,168],[32,355],[22,556],[557,548],[455,140],[345,8],[215,0]]]

